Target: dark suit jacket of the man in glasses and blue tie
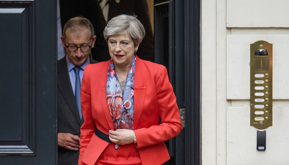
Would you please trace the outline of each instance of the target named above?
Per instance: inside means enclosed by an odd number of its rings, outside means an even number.
[[[90,63],[97,61],[90,58]],[[57,62],[57,129],[58,133],[71,133],[80,136],[80,120],[75,97],[73,94],[65,57]],[[58,147],[58,165],[77,165],[79,151]]]

